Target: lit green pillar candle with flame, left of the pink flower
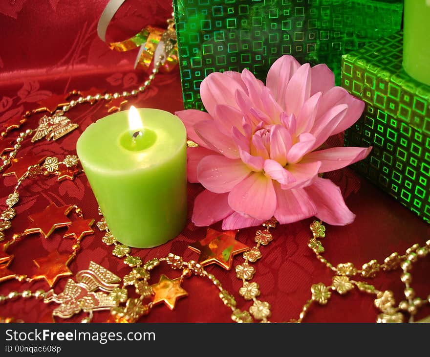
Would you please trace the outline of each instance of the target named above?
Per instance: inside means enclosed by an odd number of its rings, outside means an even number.
[[[79,137],[76,151],[119,242],[149,248],[184,228],[186,142],[182,121],[156,109],[108,115]]]

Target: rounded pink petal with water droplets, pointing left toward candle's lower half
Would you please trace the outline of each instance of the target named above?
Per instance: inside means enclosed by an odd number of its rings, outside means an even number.
[[[197,179],[209,191],[229,192],[245,179],[251,170],[240,159],[230,159],[221,155],[209,155],[197,165]]]

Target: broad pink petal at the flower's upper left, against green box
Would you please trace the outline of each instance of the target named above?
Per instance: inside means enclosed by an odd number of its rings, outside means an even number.
[[[200,84],[200,96],[209,114],[215,113],[217,104],[226,104],[237,108],[235,92],[243,90],[243,83],[239,83],[236,77],[219,72],[209,74]]]

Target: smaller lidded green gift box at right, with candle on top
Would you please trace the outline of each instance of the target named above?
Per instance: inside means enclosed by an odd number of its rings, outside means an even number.
[[[342,87],[366,102],[347,146],[373,146],[358,172],[430,221],[430,87],[402,68],[403,34],[342,58]]]

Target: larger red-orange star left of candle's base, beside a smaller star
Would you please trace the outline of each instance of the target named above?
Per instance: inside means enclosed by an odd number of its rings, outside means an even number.
[[[58,207],[51,202],[42,212],[28,216],[31,223],[25,229],[24,234],[40,232],[43,237],[48,238],[55,229],[72,223],[67,217],[72,208],[72,205]]]

